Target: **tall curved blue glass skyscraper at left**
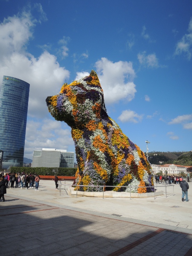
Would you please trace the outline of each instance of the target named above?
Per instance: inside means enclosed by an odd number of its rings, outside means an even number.
[[[0,90],[0,150],[2,168],[23,166],[30,84],[3,76]]]

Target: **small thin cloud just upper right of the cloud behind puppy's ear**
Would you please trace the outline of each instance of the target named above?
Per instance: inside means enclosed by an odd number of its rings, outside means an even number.
[[[148,54],[146,55],[146,52],[138,53],[137,58],[141,65],[148,68],[157,68],[159,66],[158,58],[156,57],[156,54]]]

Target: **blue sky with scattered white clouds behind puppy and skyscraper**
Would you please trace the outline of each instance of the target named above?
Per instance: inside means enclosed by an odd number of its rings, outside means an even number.
[[[0,77],[30,83],[24,156],[74,151],[45,99],[97,72],[108,115],[146,151],[192,150],[191,0],[0,0]]]

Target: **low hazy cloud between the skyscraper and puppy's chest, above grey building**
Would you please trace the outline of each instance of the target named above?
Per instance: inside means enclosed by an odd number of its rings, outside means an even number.
[[[29,120],[26,126],[25,157],[31,158],[34,150],[42,148],[68,149],[74,145],[70,129],[63,123],[43,119],[41,122]]]

